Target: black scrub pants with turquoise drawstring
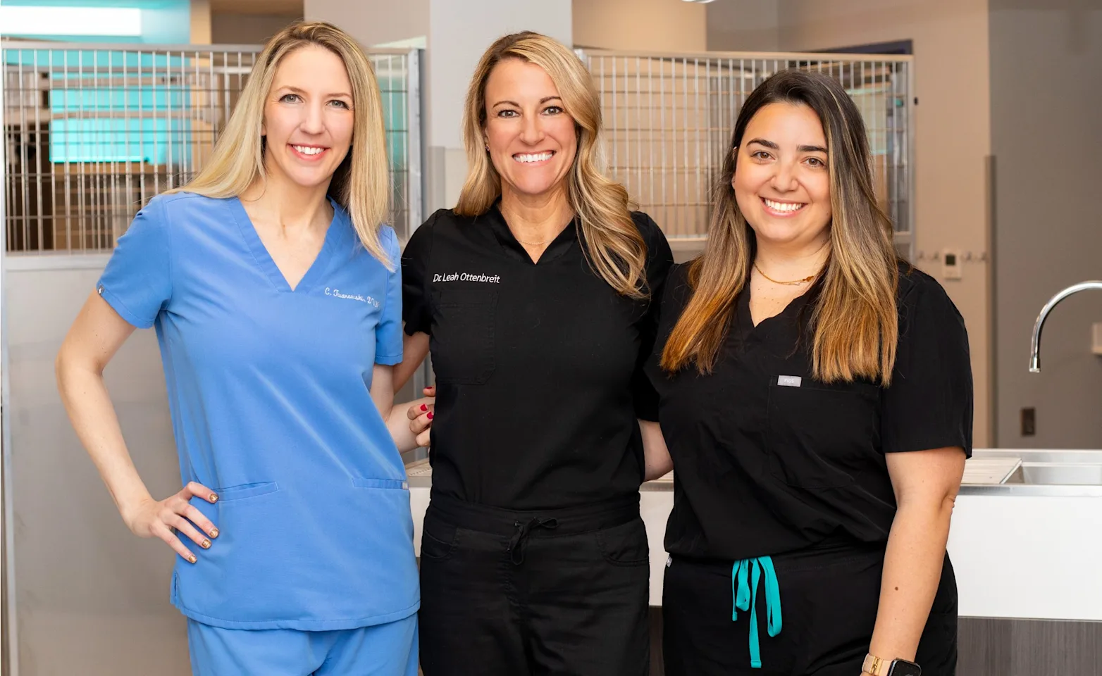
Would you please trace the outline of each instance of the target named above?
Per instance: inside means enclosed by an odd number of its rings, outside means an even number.
[[[781,630],[767,632],[757,590],[761,667],[750,666],[748,611],[732,620],[732,561],[673,557],[662,590],[666,676],[857,676],[879,602],[884,547],[832,547],[773,557]],[[915,659],[922,676],[957,673],[957,580],[946,555]]]

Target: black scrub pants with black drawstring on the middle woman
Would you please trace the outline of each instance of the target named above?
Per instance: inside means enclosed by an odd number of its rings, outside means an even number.
[[[434,497],[421,536],[424,676],[645,676],[638,495],[518,512]]]

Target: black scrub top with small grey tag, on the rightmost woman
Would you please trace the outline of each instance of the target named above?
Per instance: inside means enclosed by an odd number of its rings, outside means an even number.
[[[885,454],[960,446],[971,456],[964,320],[929,275],[900,264],[896,363],[882,388],[811,377],[806,330],[817,288],[757,327],[743,291],[710,375],[695,366],[661,371],[690,297],[687,272],[670,272],[647,366],[673,459],[671,554],[737,560],[886,542],[896,503]]]

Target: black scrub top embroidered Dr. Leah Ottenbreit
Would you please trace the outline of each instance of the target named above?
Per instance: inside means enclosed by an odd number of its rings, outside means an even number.
[[[430,336],[433,495],[542,510],[638,492],[636,418],[658,417],[644,366],[673,255],[649,216],[631,218],[652,301],[593,271],[576,221],[536,263],[496,205],[473,218],[442,209],[410,238],[402,318]]]

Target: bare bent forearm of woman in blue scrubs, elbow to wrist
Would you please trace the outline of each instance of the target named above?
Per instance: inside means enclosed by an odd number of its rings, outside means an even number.
[[[127,450],[102,374],[58,362],[57,386],[77,438],[99,470],[119,514],[129,523],[128,515],[152,497]]]

